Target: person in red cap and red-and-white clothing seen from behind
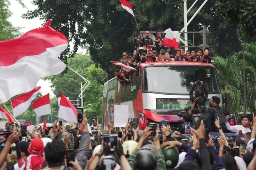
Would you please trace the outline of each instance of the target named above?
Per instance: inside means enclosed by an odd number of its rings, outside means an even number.
[[[43,141],[40,138],[34,138],[27,148],[30,155],[27,157],[25,162],[24,170],[38,170],[42,168],[44,164],[44,158],[41,154],[44,152]]]

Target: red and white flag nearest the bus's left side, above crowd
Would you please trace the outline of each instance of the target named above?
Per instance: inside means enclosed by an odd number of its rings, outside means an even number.
[[[58,117],[66,121],[77,122],[76,107],[63,94],[60,96]]]

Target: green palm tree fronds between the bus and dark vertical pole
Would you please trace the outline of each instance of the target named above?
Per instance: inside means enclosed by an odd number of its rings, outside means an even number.
[[[224,105],[230,112],[236,113],[241,109],[241,92],[242,85],[242,63],[236,55],[231,55],[226,59],[214,57],[214,66],[219,75]],[[228,103],[230,106],[228,107]]]

